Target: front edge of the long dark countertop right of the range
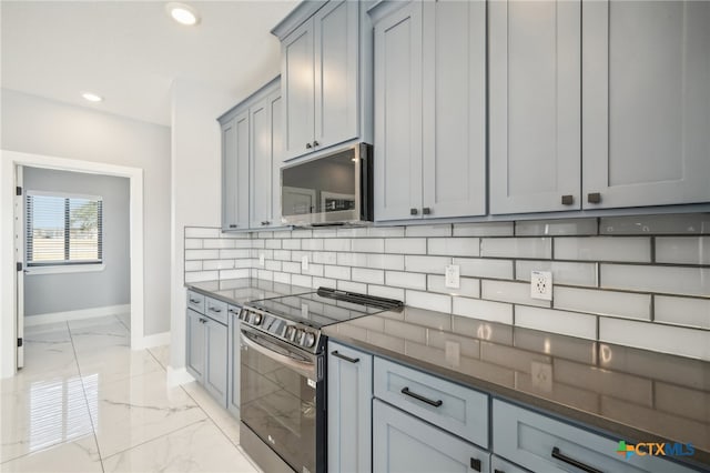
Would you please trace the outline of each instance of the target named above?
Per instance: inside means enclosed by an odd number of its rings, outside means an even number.
[[[474,390],[481,391],[486,394],[489,394],[491,397],[499,399],[501,401],[509,401],[515,404],[518,404],[523,407],[528,407],[534,411],[538,411],[542,414],[548,414],[552,416],[561,416],[565,419],[558,419],[562,422],[581,426],[582,429],[596,430],[599,434],[617,440],[626,440],[629,442],[666,442],[673,443],[679,442],[678,440],[668,439],[655,434],[652,432],[648,432],[641,429],[632,427],[622,422],[615,421],[613,419],[605,417],[599,414],[595,414],[592,412],[582,411],[579,409],[570,407],[565,404],[557,403],[555,401],[536,396],[532,393],[528,393],[525,391],[518,391],[508,386],[504,386],[500,384],[495,384],[475,376],[466,375],[464,373],[447,370],[446,368],[439,366],[437,364],[427,363],[424,360],[414,356],[403,355],[402,353],[397,353],[382,346],[372,345],[367,342],[363,342],[358,339],[353,339],[347,335],[343,335],[341,333],[333,333],[328,330],[329,328],[325,328],[323,333],[325,333],[328,339],[332,339],[336,342],[351,345],[352,348],[364,350],[374,355],[388,359],[390,361],[398,362],[400,364],[406,364],[412,368],[419,369],[420,371],[428,372],[430,374],[437,375],[448,381],[453,381],[455,383],[462,384],[466,388],[471,388]],[[591,429],[590,429],[591,427]],[[488,447],[488,445],[484,445]],[[710,466],[710,451],[699,449],[693,445],[696,449],[696,453],[691,457],[680,459],[665,459],[666,461],[674,461],[676,463],[699,469],[699,471],[707,472]]]

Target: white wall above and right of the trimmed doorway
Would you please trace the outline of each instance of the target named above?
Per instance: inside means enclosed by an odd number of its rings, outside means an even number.
[[[1,113],[4,150],[143,170],[144,333],[170,330],[170,129],[7,89]]]

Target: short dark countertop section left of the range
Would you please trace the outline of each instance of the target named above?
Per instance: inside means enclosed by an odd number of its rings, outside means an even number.
[[[314,291],[313,289],[300,285],[264,281],[254,278],[186,282],[185,288],[234,305],[242,305],[248,301],[257,301],[260,299],[304,294]]]

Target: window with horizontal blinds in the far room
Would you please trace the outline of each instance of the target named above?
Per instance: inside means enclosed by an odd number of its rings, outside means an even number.
[[[103,262],[100,197],[27,193],[27,265]]]

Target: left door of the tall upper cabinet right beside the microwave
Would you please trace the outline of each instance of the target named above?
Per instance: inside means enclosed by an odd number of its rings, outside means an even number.
[[[422,217],[422,2],[375,24],[375,219]]]

